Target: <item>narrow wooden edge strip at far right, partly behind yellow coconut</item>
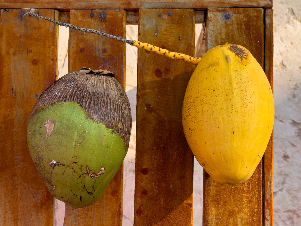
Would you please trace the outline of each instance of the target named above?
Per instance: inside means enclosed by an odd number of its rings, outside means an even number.
[[[273,10],[265,10],[265,74],[273,90]],[[273,138],[265,150],[264,158],[264,226],[273,226]]]

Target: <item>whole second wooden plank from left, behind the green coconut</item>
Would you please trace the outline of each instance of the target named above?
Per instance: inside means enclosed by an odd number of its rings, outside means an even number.
[[[126,37],[125,10],[70,10],[70,24]],[[115,72],[115,78],[125,88],[125,43],[70,29],[68,57],[69,71],[112,67],[109,70]],[[64,225],[122,225],[122,194],[123,165],[96,203],[81,209],[66,205]]]

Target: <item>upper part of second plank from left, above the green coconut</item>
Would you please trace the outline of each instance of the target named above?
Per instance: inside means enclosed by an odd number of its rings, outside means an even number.
[[[100,30],[126,37],[125,10],[71,10],[70,23],[78,27]],[[125,87],[126,44],[104,36],[70,29],[68,70],[81,67],[113,70],[115,78]]]

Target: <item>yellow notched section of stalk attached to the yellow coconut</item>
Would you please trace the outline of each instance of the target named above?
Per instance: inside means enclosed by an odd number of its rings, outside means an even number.
[[[191,56],[185,55],[183,53],[169,52],[167,49],[161,49],[161,48],[159,48],[157,46],[153,46],[151,44],[147,44],[147,43],[143,43],[143,42],[139,42],[139,41],[135,41],[135,40],[133,40],[133,41],[134,42],[133,42],[132,46],[136,46],[137,48],[145,49],[147,51],[155,52],[160,55],[165,55],[172,59],[182,60],[182,61],[190,62],[193,64],[197,64],[201,60],[200,57],[196,58],[196,57],[191,57]]]

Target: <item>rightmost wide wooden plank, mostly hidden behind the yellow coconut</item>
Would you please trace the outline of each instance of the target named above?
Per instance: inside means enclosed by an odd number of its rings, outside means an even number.
[[[263,67],[263,9],[208,9],[206,51],[225,42],[246,47]],[[203,178],[203,225],[262,226],[262,162],[248,181],[236,186],[216,183],[206,171]]]

